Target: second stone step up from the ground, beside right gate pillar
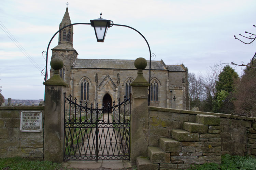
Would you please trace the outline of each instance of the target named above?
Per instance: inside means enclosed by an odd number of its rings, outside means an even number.
[[[148,147],[147,154],[152,163],[170,163],[170,153],[159,147]]]

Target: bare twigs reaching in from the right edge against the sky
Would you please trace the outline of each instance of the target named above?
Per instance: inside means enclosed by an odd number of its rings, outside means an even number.
[[[255,27],[255,25],[253,25],[253,27]],[[256,28],[256,27],[255,27],[255,28]],[[252,33],[249,33],[249,32],[247,32],[247,31],[245,31],[245,33],[246,33],[246,35],[248,35],[248,36],[244,36],[244,35],[241,35],[241,34],[239,34],[239,35],[242,36],[243,38],[245,38],[246,40],[249,40],[248,43],[246,43],[245,41],[243,41],[243,40],[237,38],[236,35],[234,35],[234,37],[235,37],[235,39],[238,39],[239,41],[241,41],[241,42],[244,43],[244,44],[252,44],[253,41],[255,41],[255,39],[256,39],[256,34],[252,34]],[[251,61],[250,61],[249,63],[247,63],[247,64],[244,64],[244,63],[236,64],[236,63],[234,63],[234,62],[231,62],[231,64],[232,64],[232,65],[236,65],[236,66],[247,66],[247,67],[251,67],[251,68],[256,68],[256,66],[253,64],[253,60],[254,60],[254,58],[255,58],[255,55],[256,55],[256,52],[254,53],[254,55],[253,55]]]

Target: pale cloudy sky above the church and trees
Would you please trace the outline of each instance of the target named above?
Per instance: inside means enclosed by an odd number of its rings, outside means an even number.
[[[0,29],[0,86],[5,99],[44,99],[42,52],[59,29],[66,3],[1,0],[0,26],[23,48],[20,51],[21,47]],[[156,55],[152,60],[163,60],[168,65],[183,63],[189,72],[196,74],[205,74],[217,63],[248,63],[256,50],[254,44],[245,45],[234,39],[234,35],[246,35],[245,31],[256,33],[255,0],[69,0],[68,3],[72,23],[89,23],[102,12],[102,18],[141,32]],[[57,43],[58,36],[50,49]],[[73,47],[79,53],[78,58],[149,60],[145,40],[125,27],[109,28],[104,43],[97,43],[91,26],[74,26]],[[51,54],[49,50],[49,61]],[[232,67],[242,74],[242,67]]]

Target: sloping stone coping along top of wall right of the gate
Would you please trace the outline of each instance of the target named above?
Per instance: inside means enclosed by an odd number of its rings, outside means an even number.
[[[163,107],[149,107],[150,111],[162,111],[162,112],[174,112],[174,113],[187,113],[187,114],[194,114],[194,115],[213,115],[225,118],[233,118],[233,119],[242,119],[242,120],[250,120],[255,121],[256,117],[244,117],[244,116],[237,116],[237,115],[228,115],[223,113],[211,113],[211,112],[200,112],[200,111],[187,111],[182,109],[173,109],[173,108],[163,108]]]

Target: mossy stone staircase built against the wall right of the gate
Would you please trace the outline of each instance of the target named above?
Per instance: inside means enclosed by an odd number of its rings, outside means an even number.
[[[137,157],[138,170],[189,169],[191,164],[221,163],[220,117],[197,115],[183,122],[171,138],[159,138],[159,147],[148,147],[148,157]]]

